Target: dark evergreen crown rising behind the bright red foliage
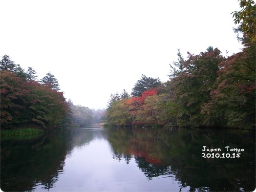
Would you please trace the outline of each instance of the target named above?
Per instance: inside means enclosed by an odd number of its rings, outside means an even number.
[[[159,78],[147,77],[142,74],[141,79],[135,83],[131,95],[140,97],[148,88],[156,88],[160,86],[160,84],[161,81]]]

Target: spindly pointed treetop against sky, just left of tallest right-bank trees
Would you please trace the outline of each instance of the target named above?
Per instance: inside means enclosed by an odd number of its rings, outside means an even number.
[[[180,53],[180,49],[178,49],[177,55],[178,61],[174,61],[173,64],[169,64],[170,68],[172,68],[170,69],[170,75],[168,75],[170,79],[179,76],[185,71],[184,58]]]

